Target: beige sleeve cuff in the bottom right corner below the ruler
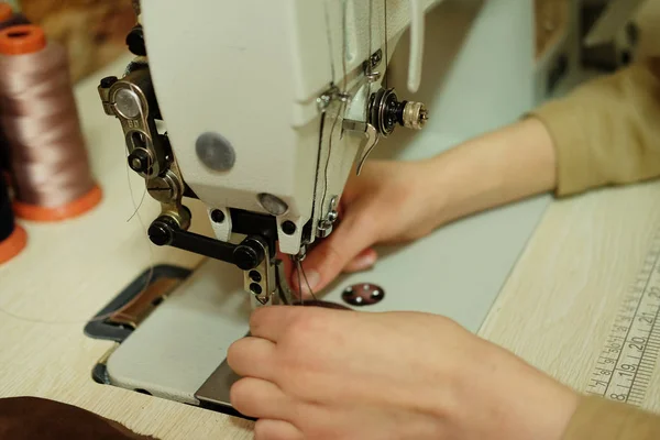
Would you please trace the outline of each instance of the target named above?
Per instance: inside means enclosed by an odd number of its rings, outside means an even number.
[[[657,440],[660,416],[629,405],[585,397],[562,440]]]

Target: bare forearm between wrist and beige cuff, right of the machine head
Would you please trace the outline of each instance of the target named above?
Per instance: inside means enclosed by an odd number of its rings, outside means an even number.
[[[552,139],[535,118],[470,140],[421,167],[438,226],[557,186]]]

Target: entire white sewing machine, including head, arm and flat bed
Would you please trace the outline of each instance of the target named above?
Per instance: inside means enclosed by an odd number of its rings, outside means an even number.
[[[142,0],[139,13],[136,58],[101,81],[103,109],[161,205],[151,241],[210,260],[122,340],[103,382],[231,411],[227,348],[251,309],[296,301],[276,251],[298,264],[332,233],[351,173],[375,155],[439,153],[535,105],[532,7]],[[206,206],[215,237],[188,231],[186,197]],[[323,298],[443,314],[475,331],[547,204],[385,250],[373,272],[339,279]]]

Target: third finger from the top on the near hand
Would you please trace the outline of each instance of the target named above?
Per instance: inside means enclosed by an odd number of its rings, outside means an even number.
[[[277,385],[261,378],[244,377],[230,389],[231,405],[243,416],[286,420],[293,400]]]

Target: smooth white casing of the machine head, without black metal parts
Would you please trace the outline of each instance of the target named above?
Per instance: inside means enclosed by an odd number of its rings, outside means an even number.
[[[258,196],[277,197],[287,206],[277,216],[279,249],[297,254],[302,227],[312,220],[314,240],[366,142],[342,129],[344,111],[361,99],[365,59],[393,52],[410,14],[438,2],[196,0],[184,8],[178,0],[142,0],[152,79],[186,184],[209,211],[267,213]],[[384,69],[385,59],[376,67]],[[318,100],[332,86],[348,96],[329,102],[321,125]],[[366,111],[366,102],[360,107]],[[231,169],[199,160],[196,141],[208,132],[233,147]],[[282,232],[285,221],[295,233]],[[219,240],[230,240],[230,222],[213,228]]]

